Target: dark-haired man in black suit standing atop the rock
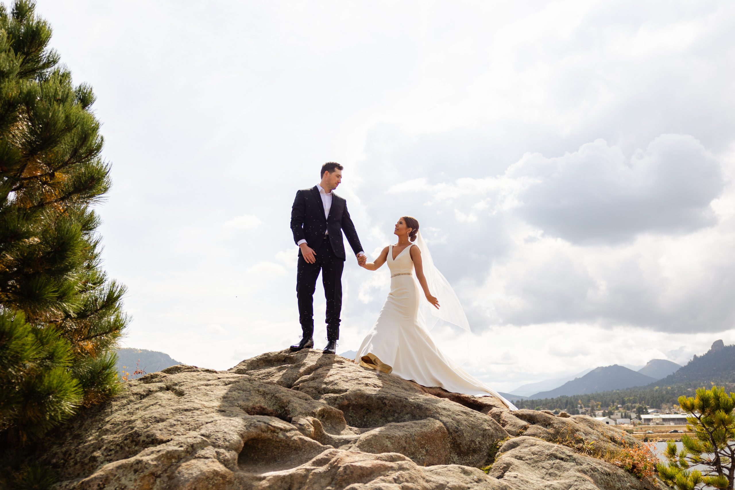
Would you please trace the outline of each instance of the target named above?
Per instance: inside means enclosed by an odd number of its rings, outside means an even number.
[[[327,162],[322,165],[321,181],[311,189],[296,191],[291,206],[291,231],[298,245],[296,267],[296,298],[301,342],[292,351],[314,347],[314,291],[319,271],[322,273],[326,298],[326,339],[323,352],[334,354],[340,338],[342,310],[342,270],[345,267],[345,245],[342,232],[350,242],[357,262],[366,261],[357,231],[347,212],[347,201],[332,192],[342,181],[342,165]]]

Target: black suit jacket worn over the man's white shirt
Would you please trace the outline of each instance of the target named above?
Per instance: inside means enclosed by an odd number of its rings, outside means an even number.
[[[357,237],[354,223],[347,212],[347,201],[332,191],[329,216],[324,217],[324,205],[319,194],[319,187],[296,191],[296,198],[291,206],[291,231],[293,241],[305,239],[306,245],[317,250],[324,240],[324,232],[329,230],[329,241],[334,255],[345,260],[345,243],[342,232],[345,232],[355,255],[362,252],[362,245]],[[301,254],[301,251],[298,252]]]

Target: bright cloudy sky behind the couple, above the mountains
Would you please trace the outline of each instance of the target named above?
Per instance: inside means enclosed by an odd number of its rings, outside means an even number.
[[[290,206],[327,161],[369,256],[418,218],[473,328],[434,335],[497,389],[735,343],[731,1],[37,4],[98,96],[128,347],[295,342]],[[348,259],[338,351],[388,282]]]

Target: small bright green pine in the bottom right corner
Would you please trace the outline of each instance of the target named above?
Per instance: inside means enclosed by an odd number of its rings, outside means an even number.
[[[688,411],[686,429],[694,437],[681,436],[681,451],[669,442],[668,464],[659,464],[661,479],[678,490],[733,490],[735,483],[735,393],[720,386],[700,388],[696,397],[679,397],[682,410]],[[698,465],[700,469],[693,469]]]

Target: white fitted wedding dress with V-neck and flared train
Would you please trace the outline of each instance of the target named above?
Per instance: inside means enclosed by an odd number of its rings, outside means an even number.
[[[393,245],[388,247],[390,293],[378,320],[357,350],[355,362],[363,367],[416,381],[422,386],[441,386],[453,393],[491,394],[503,400],[511,410],[517,410],[498,392],[473,378],[449,359],[434,344],[418,314],[420,301],[426,301],[426,298],[413,277],[414,264],[409,250],[414,246],[404,248],[395,260]],[[434,291],[431,293],[436,294]],[[442,303],[442,298],[438,299]]]

